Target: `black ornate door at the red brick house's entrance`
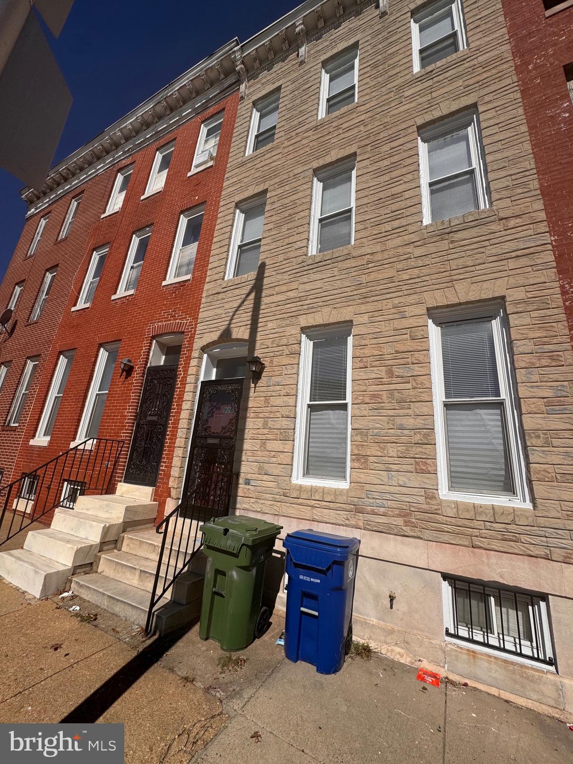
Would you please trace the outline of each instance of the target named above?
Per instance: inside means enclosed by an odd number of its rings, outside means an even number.
[[[125,483],[155,485],[157,482],[176,378],[176,366],[147,367]]]

